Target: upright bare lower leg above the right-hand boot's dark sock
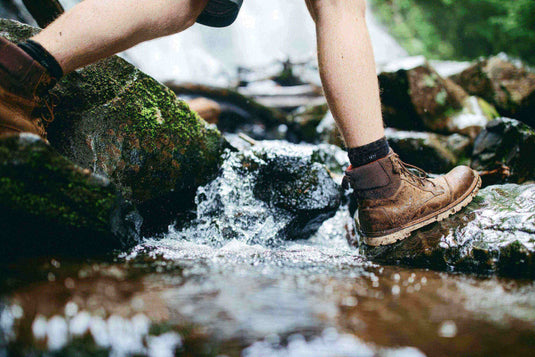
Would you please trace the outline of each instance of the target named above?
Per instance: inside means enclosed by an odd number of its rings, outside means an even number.
[[[348,148],[384,136],[365,0],[305,0],[314,22],[329,108]]]

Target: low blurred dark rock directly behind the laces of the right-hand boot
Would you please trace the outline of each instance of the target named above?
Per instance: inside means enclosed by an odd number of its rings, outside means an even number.
[[[471,149],[469,138],[426,132],[385,130],[390,147],[407,163],[425,171],[444,173],[467,160]]]

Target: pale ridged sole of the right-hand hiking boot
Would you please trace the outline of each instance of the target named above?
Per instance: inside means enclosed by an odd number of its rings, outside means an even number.
[[[470,202],[474,199],[474,197],[479,192],[479,188],[481,187],[481,177],[477,177],[477,181],[475,184],[472,184],[472,187],[465,196],[461,197],[459,200],[451,203],[450,205],[446,206],[445,208],[441,209],[438,212],[433,213],[432,215],[429,215],[427,217],[422,218],[421,222],[415,223],[408,227],[402,227],[400,230],[388,233],[384,236],[379,237],[364,237],[364,243],[370,246],[378,247],[381,245],[390,245],[393,243],[396,243],[400,240],[403,240],[405,238],[408,238],[411,233],[417,229],[420,229],[424,226],[427,226],[434,222],[440,222],[449,216],[459,212],[464,207],[468,206]]]

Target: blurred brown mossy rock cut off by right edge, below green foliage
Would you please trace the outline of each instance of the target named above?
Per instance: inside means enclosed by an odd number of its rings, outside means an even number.
[[[451,78],[471,95],[494,104],[501,115],[535,126],[535,73],[523,66],[495,56]]]

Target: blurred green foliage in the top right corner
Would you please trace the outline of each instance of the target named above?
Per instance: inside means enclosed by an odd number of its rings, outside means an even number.
[[[473,59],[498,52],[535,64],[535,0],[371,0],[411,54]]]

